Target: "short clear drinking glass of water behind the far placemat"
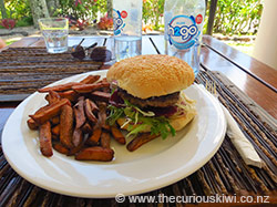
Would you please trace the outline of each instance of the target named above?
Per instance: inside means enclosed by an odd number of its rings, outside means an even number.
[[[39,19],[39,25],[49,53],[68,51],[69,20],[66,18]]]

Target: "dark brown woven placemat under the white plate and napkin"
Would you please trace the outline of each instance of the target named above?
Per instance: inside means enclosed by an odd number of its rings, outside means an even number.
[[[197,83],[216,83],[220,102],[239,123],[246,137],[264,162],[263,168],[247,166],[235,149],[229,137],[225,139],[214,155],[201,169],[191,176],[146,196],[212,196],[270,195],[276,197],[277,151],[276,121],[243,94],[220,73],[202,71]],[[253,107],[259,108],[253,112]],[[265,117],[268,116],[268,117]],[[181,155],[182,156],[182,155]],[[145,169],[146,170],[146,169]],[[37,187],[21,178],[7,163],[0,152],[0,206],[129,206],[125,199],[119,204],[111,199],[84,199],[63,196]],[[144,204],[145,205],[145,204]],[[168,206],[168,204],[163,204]],[[142,206],[142,204],[132,204]],[[147,206],[157,206],[156,203]]]

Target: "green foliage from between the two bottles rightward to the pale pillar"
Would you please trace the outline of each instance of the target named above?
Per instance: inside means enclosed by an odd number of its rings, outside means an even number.
[[[255,34],[260,22],[264,0],[218,0],[214,22],[214,32],[223,34]],[[203,32],[206,32],[211,0]],[[143,22],[161,30],[164,0],[143,0]]]

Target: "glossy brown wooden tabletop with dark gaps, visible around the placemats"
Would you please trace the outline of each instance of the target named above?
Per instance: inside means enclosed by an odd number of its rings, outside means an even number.
[[[72,37],[69,43],[76,44],[81,39]],[[95,39],[101,39],[100,42],[104,41],[103,38],[94,37],[84,43],[89,44]],[[212,37],[204,37],[203,43],[201,66],[225,74],[238,89],[277,118],[277,71]],[[106,45],[107,48],[112,45],[110,39]],[[44,46],[44,41],[42,38],[23,38],[10,45],[10,48],[20,46]],[[157,52],[164,53],[163,37],[143,37],[142,53],[156,54]]]

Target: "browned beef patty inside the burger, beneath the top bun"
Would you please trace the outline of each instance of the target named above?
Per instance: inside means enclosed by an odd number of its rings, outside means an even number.
[[[140,99],[134,97],[133,95],[129,94],[125,90],[122,90],[119,87],[119,95],[123,99],[129,101],[130,103],[134,105],[138,105],[141,107],[146,106],[154,106],[154,107],[166,107],[175,104],[179,99],[179,92],[171,93],[167,95],[162,96],[152,96],[148,99]]]

